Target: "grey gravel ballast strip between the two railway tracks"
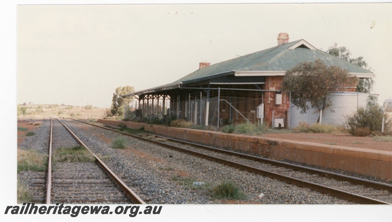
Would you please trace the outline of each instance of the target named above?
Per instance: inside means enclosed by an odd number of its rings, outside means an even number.
[[[349,204],[275,179],[255,175],[199,157],[183,154],[145,141],[72,120],[65,124],[117,174],[126,178],[147,203],[245,203],[245,204]],[[93,138],[94,137],[94,138]],[[127,149],[111,148],[111,141],[123,137]],[[231,180],[247,197],[218,200],[210,189]],[[205,182],[193,186],[189,181]],[[210,189],[209,189],[210,188]],[[258,199],[260,194],[264,196]]]

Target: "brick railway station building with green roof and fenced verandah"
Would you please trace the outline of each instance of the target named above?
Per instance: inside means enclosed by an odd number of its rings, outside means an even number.
[[[281,91],[281,84],[286,70],[316,59],[327,66],[343,67],[358,78],[374,77],[374,73],[323,52],[303,39],[289,42],[289,35],[280,33],[277,45],[271,48],[213,65],[202,62],[199,69],[173,83],[122,95],[133,99],[125,107],[124,118],[176,118],[218,128],[244,122],[290,129],[300,121],[311,124],[318,115],[314,111],[300,113],[290,104],[290,92]],[[366,105],[368,94],[355,89],[356,86],[347,86],[334,93],[334,102],[342,107],[335,107],[337,113],[326,112],[323,119],[339,125],[343,115]]]

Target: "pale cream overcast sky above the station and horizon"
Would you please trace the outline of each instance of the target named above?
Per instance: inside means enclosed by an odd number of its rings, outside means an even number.
[[[304,39],[363,56],[379,100],[392,96],[392,4],[155,4],[17,6],[17,103],[109,108],[198,69]]]

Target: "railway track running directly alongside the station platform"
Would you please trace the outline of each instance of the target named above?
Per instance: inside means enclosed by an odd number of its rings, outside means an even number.
[[[320,193],[335,196],[343,200],[349,200],[360,204],[392,203],[392,185],[390,184],[350,177],[262,157],[245,155],[150,133],[145,133],[147,136],[151,137],[151,139],[148,139],[124,133],[119,130],[110,129],[108,127],[102,127],[91,123],[86,124],[116,131],[137,139],[220,162],[248,172],[275,178],[299,187],[310,188],[312,190],[319,191]],[[167,142],[156,141],[152,137],[164,138]]]

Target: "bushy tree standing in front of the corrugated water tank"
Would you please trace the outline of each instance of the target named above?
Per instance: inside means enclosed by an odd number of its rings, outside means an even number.
[[[298,63],[287,70],[283,78],[282,89],[291,91],[292,102],[306,112],[316,107],[324,111],[331,106],[327,96],[347,85],[354,85],[358,78],[341,67],[327,67],[321,60]],[[318,120],[319,122],[319,120]]]

